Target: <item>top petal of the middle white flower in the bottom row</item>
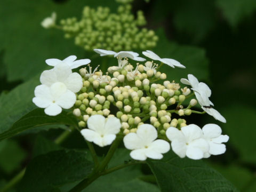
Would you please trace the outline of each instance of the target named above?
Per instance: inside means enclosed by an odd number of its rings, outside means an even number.
[[[148,146],[157,138],[157,131],[153,125],[142,124],[137,129],[137,135]]]

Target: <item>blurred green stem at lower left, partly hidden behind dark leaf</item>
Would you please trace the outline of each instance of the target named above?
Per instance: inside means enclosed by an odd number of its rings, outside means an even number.
[[[70,127],[69,130],[66,130],[63,133],[61,133],[59,135],[59,137],[54,140],[54,143],[57,145],[60,145],[61,143],[63,143],[63,141],[65,141],[68,138],[68,136],[73,131],[74,131],[74,127]],[[15,175],[14,178],[12,178],[9,182],[7,182],[6,185],[4,186],[4,188],[0,191],[1,192],[8,191],[11,188],[13,188],[15,185],[17,185],[17,183],[19,183],[20,180],[23,178],[25,171],[26,171],[26,167],[24,169],[22,169],[17,175]]]

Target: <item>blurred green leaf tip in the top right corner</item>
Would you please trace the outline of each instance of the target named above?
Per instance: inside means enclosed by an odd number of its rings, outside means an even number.
[[[256,1],[254,0],[217,0],[216,3],[233,27],[250,17],[256,10]]]

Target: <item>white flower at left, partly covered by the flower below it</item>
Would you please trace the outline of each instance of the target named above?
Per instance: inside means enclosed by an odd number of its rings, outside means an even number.
[[[67,89],[76,93],[81,90],[83,81],[81,75],[72,73],[67,63],[60,62],[51,70],[45,70],[40,76],[40,82],[44,85],[51,86],[53,83],[62,82]]]

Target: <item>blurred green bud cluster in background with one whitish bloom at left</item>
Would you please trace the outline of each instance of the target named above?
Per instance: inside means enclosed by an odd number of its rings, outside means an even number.
[[[65,38],[74,37],[75,44],[86,51],[97,48],[114,51],[151,49],[156,46],[158,37],[153,30],[140,28],[146,25],[145,17],[142,11],[138,11],[135,19],[130,2],[120,1],[123,4],[117,7],[117,13],[110,13],[108,7],[91,9],[85,6],[81,20],[62,19],[61,26],[56,26],[55,17],[46,18],[42,26],[63,30]]]

